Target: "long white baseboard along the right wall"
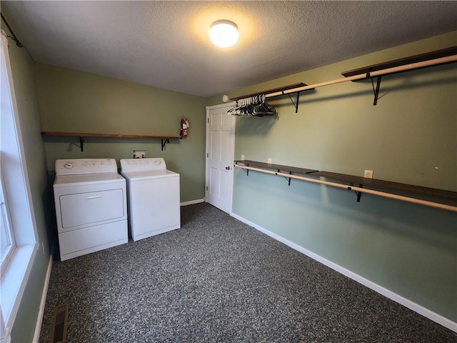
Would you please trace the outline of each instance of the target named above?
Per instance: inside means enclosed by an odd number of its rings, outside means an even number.
[[[231,217],[238,219],[239,221],[248,224],[249,226],[253,227],[254,229],[257,229],[260,232],[263,232],[263,234],[268,235],[269,237],[272,237],[276,239],[277,241],[286,244],[288,247],[291,247],[292,249],[295,249],[298,252],[301,252],[302,254],[305,254],[308,257],[311,257],[311,259],[315,259],[317,262],[321,262],[322,264],[326,265],[327,267],[330,267],[331,269],[335,270],[336,272],[339,272],[346,277],[349,277],[350,279],[353,279],[354,281],[363,284],[363,286],[368,287],[369,289],[373,289],[373,291],[378,292],[379,294],[383,295],[384,297],[387,297],[388,299],[393,300],[394,302],[398,302],[398,304],[402,304],[404,307],[408,307],[408,309],[413,310],[414,312],[417,312],[418,314],[421,314],[423,317],[426,317],[428,319],[433,320],[433,322],[436,322],[443,327],[446,327],[453,332],[457,332],[457,323],[451,321],[450,319],[447,319],[446,317],[441,316],[440,314],[437,314],[430,309],[426,309],[425,307],[422,307],[419,304],[416,304],[415,302],[412,302],[411,300],[408,300],[404,297],[401,297],[401,295],[398,295],[368,279],[365,279],[364,277],[361,277],[360,275],[351,272],[350,270],[341,267],[340,265],[329,261],[328,259],[325,259],[318,254],[314,254],[313,252],[310,252],[309,250],[300,247],[298,244],[295,244],[288,239],[285,239],[278,234],[274,234],[273,232],[268,231],[267,229],[264,229],[263,227],[258,226],[257,224],[248,221],[247,219],[244,219],[243,217],[238,216],[238,214],[234,214],[233,212],[230,214]]]

